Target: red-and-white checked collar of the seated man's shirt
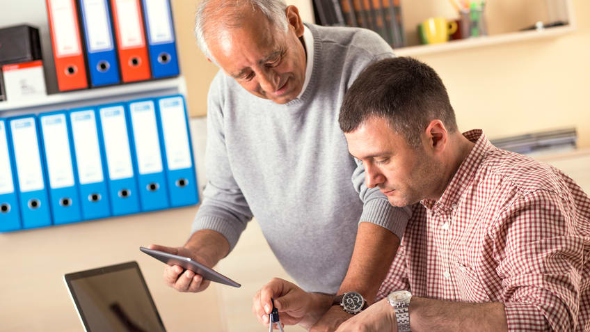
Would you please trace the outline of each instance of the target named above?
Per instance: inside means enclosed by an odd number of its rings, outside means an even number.
[[[442,192],[442,196],[438,201],[436,200],[422,200],[420,203],[426,207],[426,209],[432,209],[435,205],[446,207],[449,210],[455,210],[463,191],[465,190],[465,184],[468,184],[473,180],[475,171],[481,164],[481,160],[484,159],[486,153],[493,148],[492,143],[486,138],[486,134],[481,129],[473,129],[469,132],[464,132],[463,136],[465,139],[475,143],[467,157],[459,166],[459,169],[453,175],[451,182]]]

